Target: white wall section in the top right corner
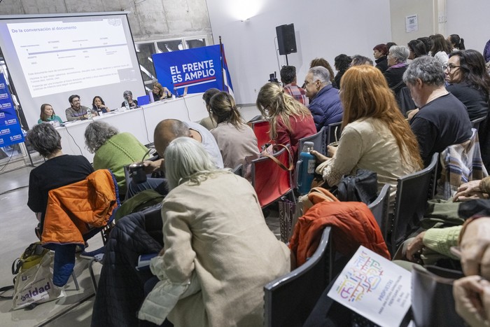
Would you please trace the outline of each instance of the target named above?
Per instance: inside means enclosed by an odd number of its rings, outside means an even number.
[[[446,0],[446,34],[458,34],[465,48],[483,53],[490,39],[489,0]]]

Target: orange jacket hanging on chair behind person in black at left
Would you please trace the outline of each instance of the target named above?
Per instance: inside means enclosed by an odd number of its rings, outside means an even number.
[[[109,169],[96,170],[83,181],[50,190],[41,242],[85,244],[83,235],[107,225],[117,207],[116,180]]]

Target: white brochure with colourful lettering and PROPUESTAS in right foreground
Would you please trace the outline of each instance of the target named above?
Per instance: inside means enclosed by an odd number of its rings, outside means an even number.
[[[328,296],[379,326],[400,326],[412,305],[412,275],[360,246]]]

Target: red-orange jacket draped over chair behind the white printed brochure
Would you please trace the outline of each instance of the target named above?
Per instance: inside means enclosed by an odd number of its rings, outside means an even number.
[[[360,245],[390,259],[381,230],[367,205],[362,202],[329,202],[314,204],[298,219],[289,247],[296,256],[297,266],[316,251],[323,229],[332,227],[335,251],[351,256]]]

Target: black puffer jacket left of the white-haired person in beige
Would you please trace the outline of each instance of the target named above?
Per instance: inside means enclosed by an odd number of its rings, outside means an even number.
[[[92,326],[138,326],[150,270],[138,272],[141,254],[163,248],[161,205],[127,215],[116,223],[106,244],[104,265],[95,295]]]

